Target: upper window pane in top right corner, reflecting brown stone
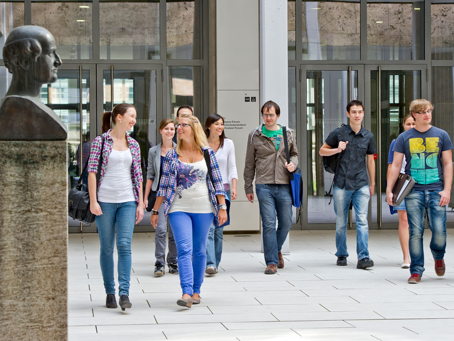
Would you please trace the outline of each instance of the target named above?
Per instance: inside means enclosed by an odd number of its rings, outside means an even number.
[[[454,59],[454,2],[432,0],[430,6],[431,44],[433,60]]]

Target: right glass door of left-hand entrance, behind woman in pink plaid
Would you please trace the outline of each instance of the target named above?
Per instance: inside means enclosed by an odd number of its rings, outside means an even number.
[[[160,142],[159,122],[169,113],[163,112],[162,69],[160,65],[98,65],[97,66],[97,133],[101,133],[101,114],[110,111],[119,103],[130,103],[136,107],[137,122],[128,133],[140,145],[142,174],[146,181],[148,151]],[[145,211],[139,223],[144,227],[135,231],[154,231],[150,224],[150,213]],[[145,227],[148,226],[148,227]]]

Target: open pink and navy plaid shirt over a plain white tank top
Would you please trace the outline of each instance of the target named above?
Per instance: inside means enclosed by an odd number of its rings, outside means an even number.
[[[102,178],[104,177],[105,173],[105,166],[107,166],[107,161],[109,159],[109,155],[112,152],[113,148],[113,139],[110,136],[110,130],[105,132],[104,138],[104,150],[102,151],[102,164],[101,164],[101,174],[99,175],[99,183],[97,189],[101,184]],[[139,203],[139,193],[140,193],[140,182],[143,181],[142,177],[142,168],[140,166],[140,147],[139,143],[126,134],[126,138],[128,139],[128,146],[131,150],[131,155],[133,157],[133,163],[131,165],[131,179],[133,182],[133,191],[134,197],[136,198],[136,203]],[[98,164],[99,164],[99,156],[101,155],[101,145],[102,139],[101,136],[96,136],[96,138],[91,143],[91,152],[90,158],[88,159],[88,172],[97,173],[98,172]]]

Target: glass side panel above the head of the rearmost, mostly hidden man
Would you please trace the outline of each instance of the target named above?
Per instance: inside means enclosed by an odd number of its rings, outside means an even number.
[[[169,66],[167,79],[169,117],[175,119],[178,108],[188,105],[194,109],[194,115],[202,119],[202,67]]]

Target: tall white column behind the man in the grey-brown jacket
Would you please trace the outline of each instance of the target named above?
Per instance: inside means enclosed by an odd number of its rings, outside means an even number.
[[[277,123],[287,126],[289,123],[287,0],[260,0],[259,27],[260,105],[269,100],[277,103],[280,107]],[[287,236],[282,252],[289,251]]]

